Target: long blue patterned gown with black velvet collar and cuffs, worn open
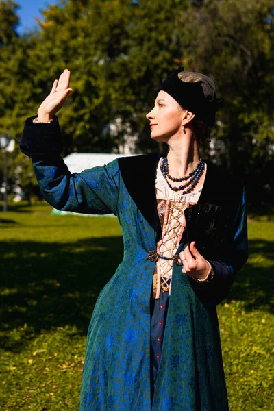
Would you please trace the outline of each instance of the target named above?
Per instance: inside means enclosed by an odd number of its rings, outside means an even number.
[[[234,180],[230,184],[229,179],[221,179],[218,186],[216,173],[214,169],[210,172],[207,163],[199,204],[186,215],[186,236],[177,253],[197,236],[197,248],[212,264],[214,279],[198,287],[182,275],[182,267],[173,266],[162,357],[152,398],[150,327],[155,262],[149,260],[148,253],[155,250],[159,238],[155,207],[159,156],[114,160],[71,174],[60,157],[57,118],[46,125],[33,124],[33,118],[26,121],[21,151],[33,159],[43,197],[58,210],[114,213],[123,234],[123,261],[101,291],[88,327],[79,410],[227,411],[216,304],[226,297],[236,272],[247,260],[242,186]],[[232,210],[229,223],[224,218],[227,212],[223,212],[228,210],[227,204]],[[198,238],[201,227],[206,228]]]

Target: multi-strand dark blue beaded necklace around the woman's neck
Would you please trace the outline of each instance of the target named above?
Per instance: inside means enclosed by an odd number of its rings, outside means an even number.
[[[197,182],[199,181],[199,178],[201,177],[201,173],[203,173],[203,168],[205,166],[205,162],[200,158],[199,163],[197,164],[197,166],[195,167],[195,169],[193,171],[191,171],[191,173],[189,173],[188,175],[184,176],[184,177],[171,177],[171,175],[169,174],[169,162],[167,160],[167,157],[165,157],[162,160],[162,164],[160,166],[160,169],[162,171],[162,175],[164,176],[164,179],[166,180],[166,183],[168,184],[168,186],[171,188],[171,190],[173,191],[182,191],[184,190],[186,187],[188,187],[185,191],[183,191],[183,194],[188,194],[188,192],[191,192],[193,190],[193,188],[195,188]],[[173,187],[171,186],[171,184],[169,184],[168,179],[170,179],[173,182],[186,182],[186,184],[181,185],[179,187]],[[187,181],[188,180],[188,181]]]

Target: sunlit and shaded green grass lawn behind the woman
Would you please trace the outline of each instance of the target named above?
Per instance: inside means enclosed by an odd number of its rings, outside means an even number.
[[[78,410],[92,308],[123,256],[119,223],[43,203],[12,206],[0,228],[0,410]],[[231,411],[274,410],[273,245],[274,221],[249,223],[249,261],[218,308]]]

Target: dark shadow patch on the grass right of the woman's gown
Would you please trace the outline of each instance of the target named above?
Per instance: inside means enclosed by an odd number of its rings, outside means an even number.
[[[256,264],[249,262],[251,258]],[[269,266],[262,258],[269,261]],[[246,310],[263,308],[274,312],[274,242],[249,240],[249,261],[236,276],[229,300],[245,301]]]

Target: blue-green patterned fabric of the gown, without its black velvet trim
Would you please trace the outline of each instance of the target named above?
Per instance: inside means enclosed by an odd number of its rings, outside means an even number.
[[[216,307],[197,297],[179,266],[173,267],[151,401],[150,297],[155,262],[147,254],[155,249],[156,232],[129,196],[118,161],[71,174],[62,158],[56,158],[34,162],[34,171],[51,206],[114,213],[123,233],[123,261],[101,291],[88,327],[79,411],[228,410]],[[236,247],[241,247],[245,229],[245,210],[241,210]],[[218,264],[234,271],[224,262],[216,262],[216,271]],[[224,275],[216,273],[219,287]]]

